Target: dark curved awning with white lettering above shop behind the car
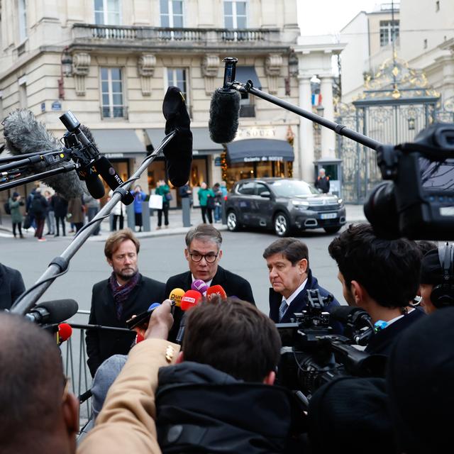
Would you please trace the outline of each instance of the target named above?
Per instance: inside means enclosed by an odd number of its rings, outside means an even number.
[[[227,157],[231,163],[294,160],[292,146],[276,139],[235,140],[227,145]]]

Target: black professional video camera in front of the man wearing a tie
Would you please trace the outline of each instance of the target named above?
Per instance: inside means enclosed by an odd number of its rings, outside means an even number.
[[[339,306],[329,314],[323,309],[333,295],[321,297],[318,289],[307,293],[307,309],[294,314],[294,322],[276,325],[282,340],[277,383],[308,396],[338,375],[383,377],[384,357],[368,355],[353,346],[366,345],[374,332],[367,312]],[[345,336],[333,334],[330,316],[343,321]]]

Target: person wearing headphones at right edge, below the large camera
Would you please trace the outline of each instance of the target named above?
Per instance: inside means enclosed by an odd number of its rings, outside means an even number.
[[[427,314],[454,306],[453,245],[430,250],[421,260],[421,306]]]

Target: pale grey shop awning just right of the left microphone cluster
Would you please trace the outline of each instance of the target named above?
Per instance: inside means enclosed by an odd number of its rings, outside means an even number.
[[[145,145],[133,129],[92,129],[92,134],[98,150],[107,157],[145,154]]]

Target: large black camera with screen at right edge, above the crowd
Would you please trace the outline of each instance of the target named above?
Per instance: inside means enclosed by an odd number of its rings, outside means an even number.
[[[449,240],[454,235],[454,124],[434,123],[414,143],[381,145],[383,179],[364,206],[378,236]]]

